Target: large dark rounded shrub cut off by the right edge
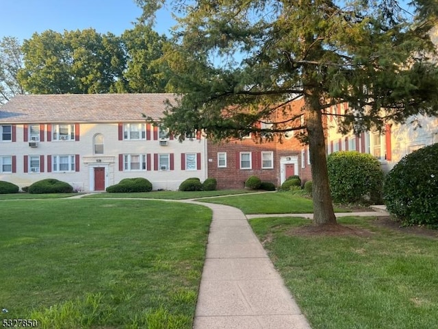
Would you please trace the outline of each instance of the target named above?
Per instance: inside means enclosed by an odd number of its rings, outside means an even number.
[[[438,143],[404,156],[383,186],[387,210],[404,226],[438,226]]]

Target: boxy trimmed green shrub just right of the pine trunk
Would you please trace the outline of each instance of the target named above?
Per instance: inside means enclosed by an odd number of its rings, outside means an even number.
[[[383,171],[371,154],[339,151],[327,158],[334,202],[376,204],[382,199]]]

